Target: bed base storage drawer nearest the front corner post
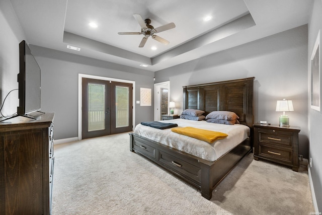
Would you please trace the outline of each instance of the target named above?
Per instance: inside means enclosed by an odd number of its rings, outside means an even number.
[[[197,160],[183,160],[168,153],[158,151],[158,161],[166,165],[168,168],[182,173],[185,178],[188,177],[195,181],[197,184],[201,183],[201,167]]]

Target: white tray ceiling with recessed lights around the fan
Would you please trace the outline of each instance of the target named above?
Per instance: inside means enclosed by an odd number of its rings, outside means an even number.
[[[157,71],[307,24],[312,0],[11,0],[29,44]],[[156,27],[176,28],[143,35],[133,14]],[[203,21],[207,15],[212,20]],[[88,24],[96,22],[97,28]],[[81,48],[67,49],[67,45]],[[157,47],[152,50],[151,47]],[[141,67],[140,64],[148,67]]]

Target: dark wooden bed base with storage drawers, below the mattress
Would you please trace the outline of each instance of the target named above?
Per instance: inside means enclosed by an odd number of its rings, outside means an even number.
[[[209,162],[134,133],[129,135],[131,152],[143,155],[197,187],[206,199],[211,198],[212,190],[238,161],[251,152],[251,141],[248,138],[218,160]]]

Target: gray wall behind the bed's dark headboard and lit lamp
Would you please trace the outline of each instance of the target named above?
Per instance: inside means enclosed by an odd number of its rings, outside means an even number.
[[[155,82],[170,81],[175,113],[182,112],[182,86],[255,77],[255,122],[278,124],[276,101],[293,101],[290,125],[300,126],[299,153],[308,157],[307,25],[240,45],[155,73]]]

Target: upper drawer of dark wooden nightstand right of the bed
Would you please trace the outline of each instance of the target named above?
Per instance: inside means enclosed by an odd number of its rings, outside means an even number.
[[[258,129],[258,141],[292,147],[292,133],[280,132],[274,129]]]

